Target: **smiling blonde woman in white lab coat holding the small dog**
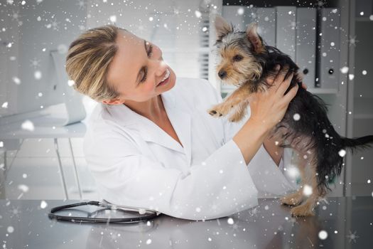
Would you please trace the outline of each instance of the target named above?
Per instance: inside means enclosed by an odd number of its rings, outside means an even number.
[[[252,95],[250,117],[237,124],[207,113],[222,101],[207,80],[177,78],[160,48],[115,26],[73,41],[66,70],[99,102],[83,148],[106,201],[207,220],[294,189],[280,169],[288,155],[268,138],[296,95],[283,95],[286,72],[268,78],[273,87]]]

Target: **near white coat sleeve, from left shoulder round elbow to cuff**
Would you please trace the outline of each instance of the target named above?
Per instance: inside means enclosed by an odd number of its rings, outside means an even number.
[[[141,154],[123,129],[98,130],[104,132],[86,135],[85,158],[99,192],[111,203],[191,220],[225,217],[258,204],[252,177],[233,140],[183,173]]]

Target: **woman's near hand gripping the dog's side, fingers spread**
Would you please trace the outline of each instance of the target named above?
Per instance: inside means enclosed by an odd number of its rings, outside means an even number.
[[[288,89],[293,74],[285,79],[288,68],[279,70],[277,65],[277,75],[269,76],[266,82],[271,85],[270,88],[261,92],[254,92],[249,96],[249,105],[251,110],[250,120],[258,125],[264,126],[270,131],[277,123],[279,123],[288,108],[289,102],[296,96],[298,84],[289,90],[286,95],[284,93]]]

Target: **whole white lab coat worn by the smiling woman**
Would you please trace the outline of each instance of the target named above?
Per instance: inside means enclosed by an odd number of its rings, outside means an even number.
[[[92,112],[83,149],[106,201],[207,220],[295,188],[263,146],[245,164],[232,140],[242,122],[208,115],[222,99],[207,80],[177,78],[161,97],[183,147],[126,105],[98,104]]]

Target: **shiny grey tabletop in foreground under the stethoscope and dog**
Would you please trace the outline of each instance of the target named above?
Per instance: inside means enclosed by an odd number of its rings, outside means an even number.
[[[209,221],[161,215],[149,222],[100,225],[48,218],[50,208],[75,202],[45,200],[48,206],[41,208],[41,200],[0,200],[1,248],[340,249],[373,244],[372,196],[326,198],[308,218],[292,218],[290,208],[276,198]]]

